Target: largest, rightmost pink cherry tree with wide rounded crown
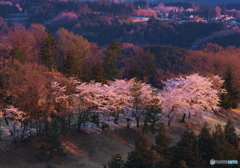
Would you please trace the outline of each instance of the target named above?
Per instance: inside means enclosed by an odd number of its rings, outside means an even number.
[[[184,122],[186,114],[196,114],[203,120],[203,115],[219,110],[219,94],[226,93],[221,89],[223,80],[218,76],[212,78],[192,74],[185,77],[172,78],[165,82],[162,92],[164,99],[164,111],[168,113],[168,125],[176,113],[183,114]]]

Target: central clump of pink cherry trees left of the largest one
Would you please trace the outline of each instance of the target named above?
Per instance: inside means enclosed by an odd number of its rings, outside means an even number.
[[[95,114],[97,121],[108,127],[117,126],[120,117],[126,119],[128,128],[134,119],[139,127],[139,119],[145,108],[156,103],[156,99],[160,99],[151,85],[137,82],[135,79],[115,80],[108,85],[98,82],[81,83],[76,86],[76,90],[79,111],[88,110],[85,116]],[[85,118],[85,121],[88,119]],[[99,126],[98,122],[95,124]],[[89,121],[88,125],[91,125]],[[93,124],[91,126],[91,129],[95,127]]]

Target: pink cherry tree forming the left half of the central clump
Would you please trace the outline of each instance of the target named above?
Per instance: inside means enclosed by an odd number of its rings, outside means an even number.
[[[111,114],[116,109],[117,99],[109,85],[92,81],[90,83],[77,85],[76,90],[77,94],[75,94],[75,96],[77,96],[79,111],[82,111],[81,113],[79,112],[79,114],[87,111],[87,114],[84,116],[90,115],[97,120],[96,123],[90,124],[88,118],[85,117],[85,122],[82,123],[85,129],[96,128],[94,124],[99,126],[99,122],[102,123],[102,126],[115,125],[114,122],[112,122],[113,117]],[[92,126],[89,127],[89,125]],[[89,131],[87,130],[87,132]],[[96,132],[98,132],[98,129],[96,129]]]

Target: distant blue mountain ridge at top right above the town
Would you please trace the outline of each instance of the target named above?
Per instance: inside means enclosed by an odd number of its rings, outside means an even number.
[[[181,0],[159,0],[159,3],[179,2]],[[184,0],[183,0],[184,1]],[[209,4],[211,6],[217,6],[227,3],[240,3],[240,0],[186,0],[185,2],[197,2],[201,4]]]

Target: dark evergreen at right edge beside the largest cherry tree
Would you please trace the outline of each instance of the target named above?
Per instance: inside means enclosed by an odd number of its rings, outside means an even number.
[[[237,108],[240,100],[240,92],[234,79],[233,70],[230,67],[227,69],[223,88],[227,90],[227,94],[221,95],[221,106],[227,110],[230,108]]]

